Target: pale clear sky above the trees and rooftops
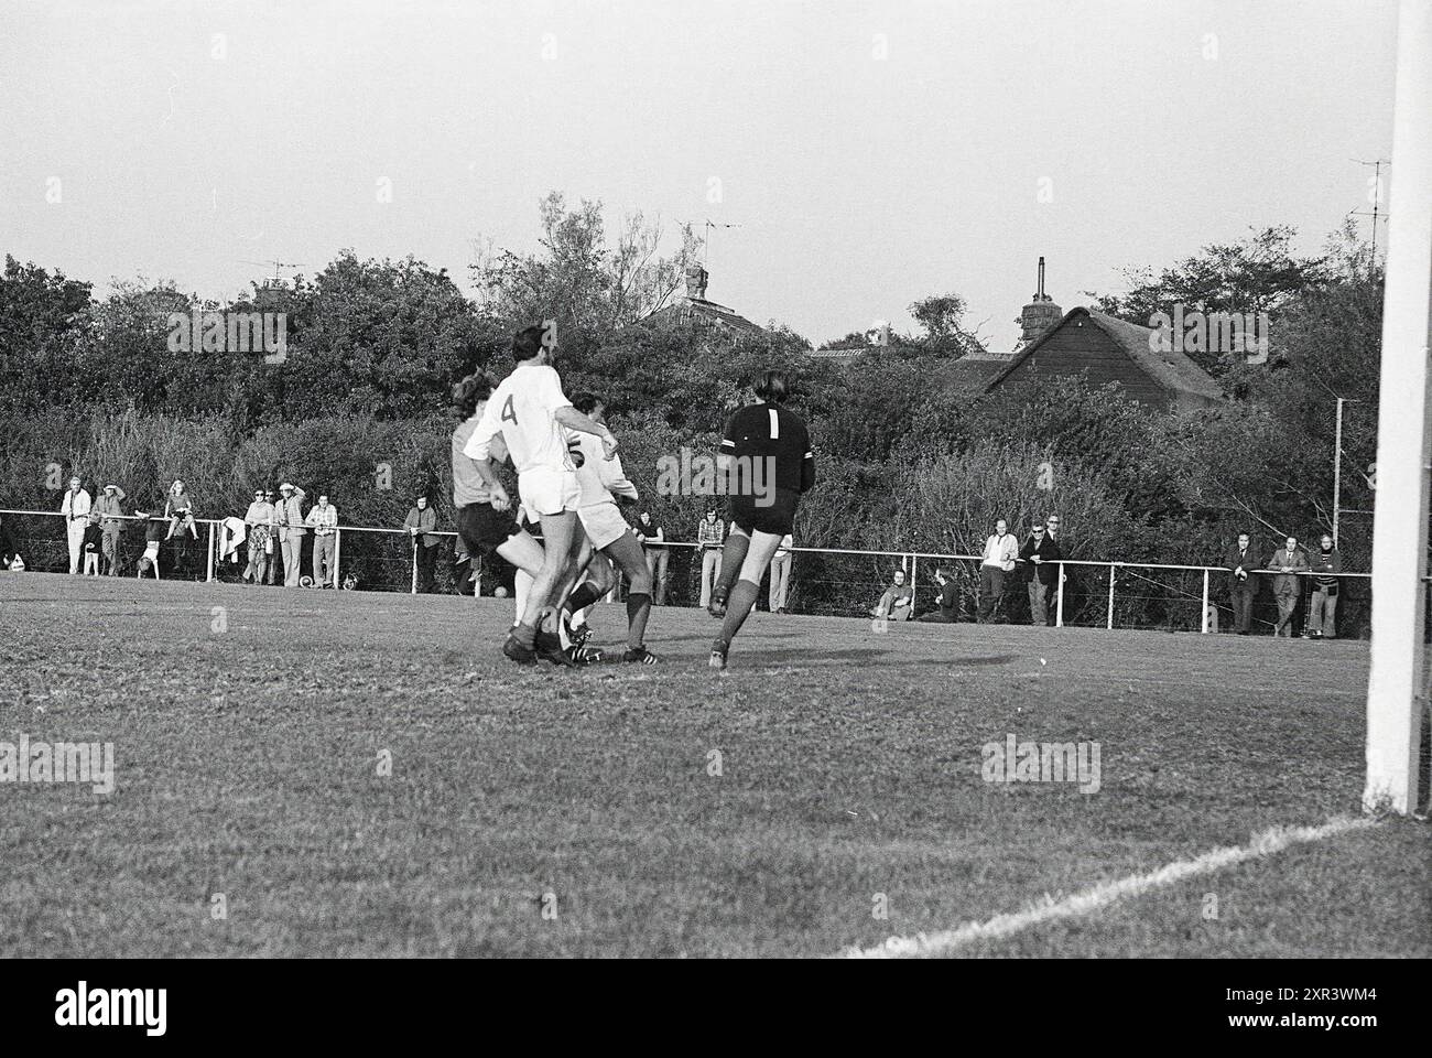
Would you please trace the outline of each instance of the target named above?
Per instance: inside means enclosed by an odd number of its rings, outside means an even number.
[[[232,297],[352,248],[471,292],[556,189],[670,249],[737,225],[707,297],[758,323],[955,292],[1008,350],[1040,255],[1068,310],[1370,209],[1395,36],[1392,0],[0,0],[0,252]]]

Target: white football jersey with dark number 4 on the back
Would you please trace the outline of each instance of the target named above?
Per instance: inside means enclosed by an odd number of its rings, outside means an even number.
[[[557,368],[518,364],[493,390],[463,452],[471,459],[487,459],[493,439],[501,434],[520,475],[538,469],[574,470],[566,434],[554,417],[563,407],[571,407],[571,401],[561,391]]]

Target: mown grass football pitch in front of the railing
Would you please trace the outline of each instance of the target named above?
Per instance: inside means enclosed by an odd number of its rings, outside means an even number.
[[[0,955],[833,955],[1358,813],[1363,642],[758,614],[720,677],[659,608],[567,672],[510,615],[0,575],[0,741],[115,744],[0,784]],[[1098,791],[985,781],[1010,734]],[[1429,866],[1389,819],[954,953],[1428,956]]]

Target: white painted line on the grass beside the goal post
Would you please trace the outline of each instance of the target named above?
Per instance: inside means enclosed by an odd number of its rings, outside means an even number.
[[[1365,830],[1372,826],[1376,826],[1376,820],[1339,816],[1327,820],[1320,827],[1273,827],[1264,830],[1262,834],[1254,834],[1253,840],[1244,846],[1213,849],[1191,860],[1176,860],[1148,874],[1130,874],[1117,882],[1104,882],[1093,889],[1067,896],[1063,900],[1045,896],[1044,900],[1021,912],[995,915],[987,922],[967,922],[958,929],[947,929],[938,933],[892,936],[884,945],[876,945],[875,948],[846,948],[841,952],[841,956],[848,959],[894,959],[906,955],[941,955],[975,940],[998,940],[1030,926],[1091,915],[1120,900],[1143,896],[1154,889],[1161,889],[1163,886],[1170,886],[1197,874],[1210,874],[1214,870],[1232,867],[1244,860],[1272,856],[1273,853],[1283,852],[1290,844],[1320,842],[1325,837],[1333,837],[1349,830]]]

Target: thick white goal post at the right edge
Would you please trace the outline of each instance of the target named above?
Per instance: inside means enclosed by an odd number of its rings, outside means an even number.
[[[1428,333],[1432,327],[1432,3],[1402,0],[1382,308],[1372,667],[1363,809],[1418,809],[1426,599]]]

